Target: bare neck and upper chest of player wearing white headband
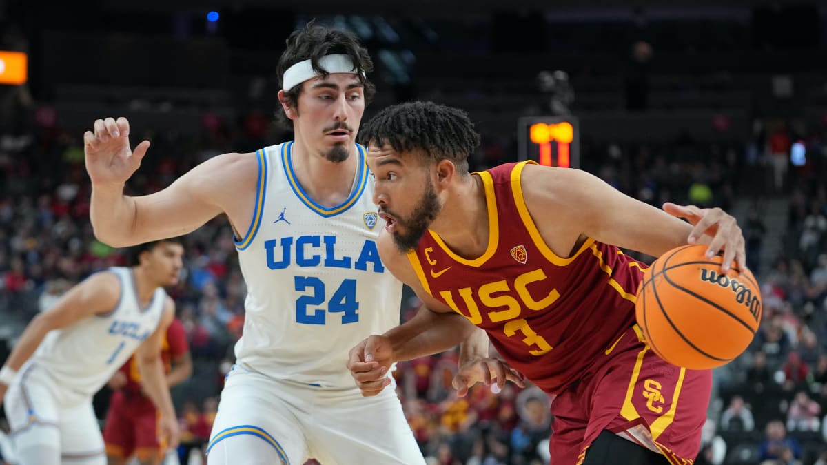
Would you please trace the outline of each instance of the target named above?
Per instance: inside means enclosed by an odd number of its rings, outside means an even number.
[[[354,153],[356,146],[351,146],[350,149],[351,156],[346,161],[336,163],[327,160],[320,153],[308,150],[308,146],[298,138],[294,142],[290,152],[294,175],[304,193],[317,204],[327,208],[335,207],[351,194],[359,156]]]

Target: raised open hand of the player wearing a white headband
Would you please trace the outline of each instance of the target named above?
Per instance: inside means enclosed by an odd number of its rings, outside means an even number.
[[[125,117],[117,122],[108,117],[95,121],[94,130],[84,133],[86,170],[93,185],[122,185],[134,173],[150,147],[142,141],[129,148],[129,121]]]

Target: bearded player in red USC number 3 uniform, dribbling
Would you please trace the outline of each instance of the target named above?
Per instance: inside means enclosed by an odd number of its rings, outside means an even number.
[[[675,204],[663,211],[584,171],[533,162],[469,175],[479,135],[466,113],[434,103],[386,108],[360,137],[387,223],[380,256],[427,307],[351,350],[363,395],[381,390],[390,362],[434,352],[428,329],[459,338],[474,324],[556,395],[555,465],[692,463],[711,372],[675,367],[648,348],[634,316],[646,265],[618,247],[659,256],[706,242],[710,256],[723,250],[724,267],[744,266],[733,217]]]

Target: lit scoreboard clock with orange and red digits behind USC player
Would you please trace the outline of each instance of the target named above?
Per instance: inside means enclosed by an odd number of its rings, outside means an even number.
[[[518,125],[519,160],[576,168],[580,146],[575,117],[523,117]]]

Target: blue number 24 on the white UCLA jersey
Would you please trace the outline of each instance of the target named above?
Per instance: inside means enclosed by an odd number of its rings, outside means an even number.
[[[296,290],[304,292],[296,300],[296,322],[301,324],[326,324],[327,312],[341,313],[342,324],[359,321],[359,302],[356,302],[356,280],[343,280],[333,293],[325,309],[308,309],[324,304],[324,282],[316,276],[296,276]]]

